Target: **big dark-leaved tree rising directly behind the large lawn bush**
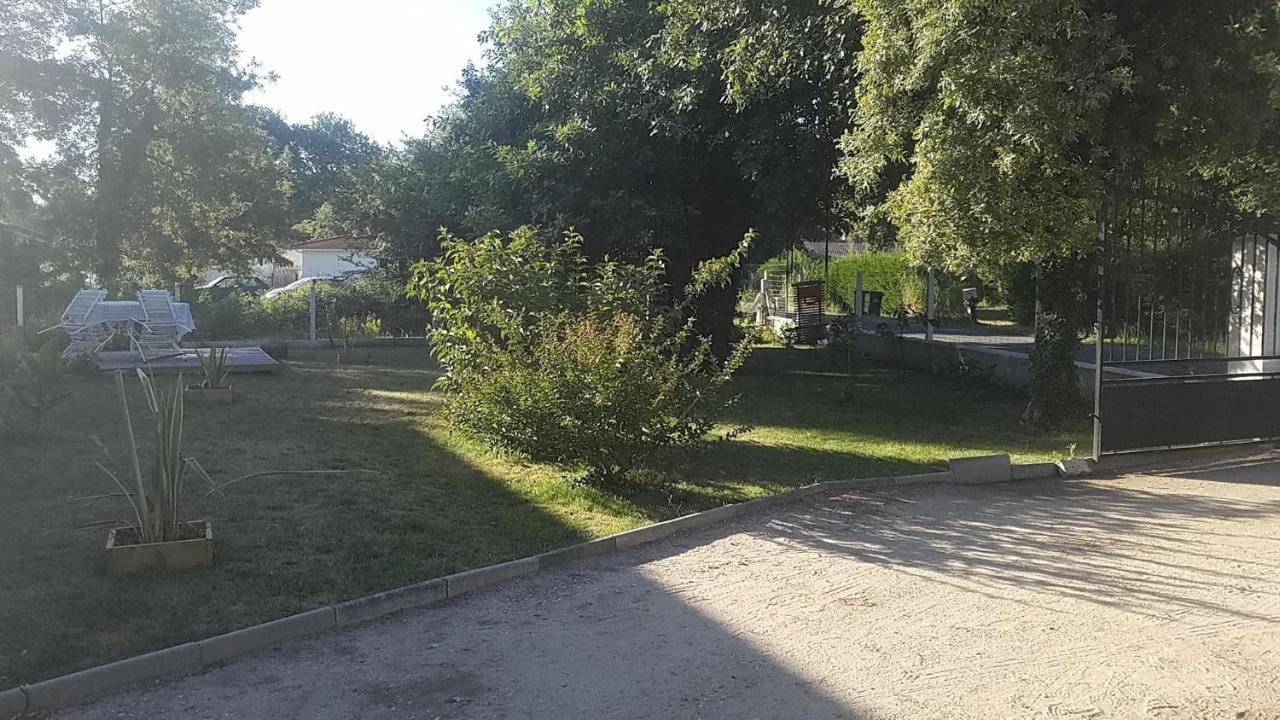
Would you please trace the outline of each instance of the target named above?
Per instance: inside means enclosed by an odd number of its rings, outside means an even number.
[[[456,104],[398,167],[379,170],[364,217],[402,256],[434,251],[434,237],[403,231],[410,218],[470,236],[576,228],[593,259],[662,249],[676,288],[749,228],[762,254],[838,233],[847,78],[819,60],[851,56],[856,32],[819,32],[819,19],[847,14],[815,1],[756,5],[506,3],[488,63],[465,74]],[[774,26],[823,49],[765,78],[748,63],[763,64],[769,50],[753,38],[777,41]],[[710,293],[699,315],[724,323],[732,300]]]

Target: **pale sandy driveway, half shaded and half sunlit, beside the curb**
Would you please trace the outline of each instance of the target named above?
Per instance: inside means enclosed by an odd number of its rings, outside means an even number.
[[[1280,466],[823,497],[59,717],[1280,717]]]

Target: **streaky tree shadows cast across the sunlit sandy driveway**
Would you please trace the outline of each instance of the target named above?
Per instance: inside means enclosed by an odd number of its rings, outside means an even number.
[[[1034,591],[1051,612],[1061,611],[1053,598],[1070,598],[1158,619],[1210,611],[1272,621],[1230,600],[1280,565],[1224,548],[1251,538],[1249,523],[1277,518],[1280,497],[1036,482],[841,493],[762,533],[996,598]]]

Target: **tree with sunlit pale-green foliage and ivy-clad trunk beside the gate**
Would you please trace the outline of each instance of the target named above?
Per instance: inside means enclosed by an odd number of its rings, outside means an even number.
[[[1097,245],[1100,210],[1156,182],[1253,214],[1277,208],[1266,190],[1277,158],[1275,3],[847,5],[867,28],[842,169],[865,192],[895,164],[909,168],[886,206],[922,263],[988,278],[1018,263],[1078,268]],[[1070,340],[1057,359],[1074,356],[1087,316],[1082,278],[1066,281],[1044,283],[1065,288],[1043,299],[1046,338]],[[1057,420],[1041,395],[1033,387],[1030,419]]]

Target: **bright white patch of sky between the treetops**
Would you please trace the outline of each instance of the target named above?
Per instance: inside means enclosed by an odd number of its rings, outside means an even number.
[[[248,102],[289,122],[333,111],[374,140],[421,135],[449,100],[497,0],[261,0],[241,19],[244,60],[274,72]]]

